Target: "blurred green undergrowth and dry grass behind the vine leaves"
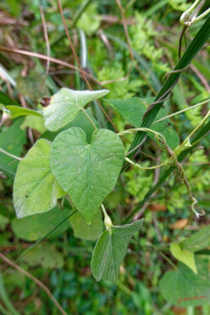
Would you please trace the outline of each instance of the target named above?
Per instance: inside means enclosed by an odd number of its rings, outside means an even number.
[[[131,127],[131,122],[112,100],[157,94],[163,75],[178,62],[179,19],[190,4],[187,0],[61,0],[69,34],[90,85],[93,90],[110,90],[101,104],[120,131]],[[205,4],[203,11],[207,8]],[[201,20],[187,30],[187,44],[203,23]],[[69,46],[57,0],[1,2],[0,26],[0,103],[39,109],[41,97],[53,95],[61,87],[88,89]],[[47,56],[51,57],[50,62]],[[165,102],[165,116],[209,98],[209,57],[207,43]],[[172,149],[202,121],[209,105],[206,102],[171,118]],[[114,130],[96,102],[88,111],[98,126]],[[65,128],[69,126],[92,132],[80,115]],[[53,140],[56,135],[47,131],[42,118],[17,118],[2,124],[0,148],[20,157],[38,138]],[[128,149],[133,135],[126,138],[128,142],[124,145]],[[145,222],[140,235],[131,240],[117,284],[96,283],[90,272],[95,240],[104,228],[101,214],[92,229],[84,224],[82,233],[77,217],[72,216],[18,265],[45,284],[67,314],[209,315],[208,304],[178,307],[160,294],[158,286],[162,275],[171,269],[167,259],[177,264],[169,245],[210,223],[208,148],[208,138],[204,138],[182,161],[193,195],[207,215],[192,218],[187,188],[175,170],[136,211],[136,214],[140,211],[138,218],[144,217]],[[138,161],[150,167],[167,158],[167,153],[161,152],[149,138]],[[49,213],[17,220],[12,204],[17,165],[18,161],[0,153],[0,252],[13,261],[64,220],[71,209],[64,200],[59,205],[62,212],[56,207]],[[130,167],[120,176],[104,202],[115,225],[133,213],[167,167],[155,172]],[[208,265],[209,258],[205,259]],[[60,314],[41,288],[20,271],[8,267],[6,261],[0,261],[1,274],[7,271],[0,279],[0,314]]]

